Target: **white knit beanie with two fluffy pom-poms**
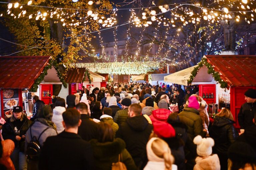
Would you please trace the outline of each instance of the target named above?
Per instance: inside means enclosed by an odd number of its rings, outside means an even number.
[[[212,146],[214,146],[212,138],[202,138],[202,136],[197,135],[194,138],[194,143],[197,145],[196,152],[199,156],[209,156],[212,154]]]

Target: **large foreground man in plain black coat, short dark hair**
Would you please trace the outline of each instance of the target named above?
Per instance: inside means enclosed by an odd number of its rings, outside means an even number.
[[[65,130],[46,139],[39,170],[94,169],[91,145],[77,134],[81,125],[80,113],[76,109],[67,109],[62,117]]]

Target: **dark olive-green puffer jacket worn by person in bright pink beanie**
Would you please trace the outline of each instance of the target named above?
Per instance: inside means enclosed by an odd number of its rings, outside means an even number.
[[[192,140],[197,135],[205,136],[206,132],[203,131],[203,122],[198,110],[185,107],[184,110],[179,113],[179,117],[180,122],[187,126],[187,133]]]

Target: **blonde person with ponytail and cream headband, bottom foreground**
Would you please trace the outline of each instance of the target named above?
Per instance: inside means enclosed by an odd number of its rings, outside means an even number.
[[[177,165],[173,165],[174,157],[168,144],[158,138],[152,137],[147,143],[148,163],[144,170],[176,170]]]

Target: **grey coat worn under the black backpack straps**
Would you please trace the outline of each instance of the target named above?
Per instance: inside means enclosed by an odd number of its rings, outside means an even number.
[[[34,122],[34,124],[30,127],[31,132],[32,132],[32,137],[36,136],[36,138],[39,137],[40,133],[45,129],[48,128],[49,126],[42,124],[41,122]],[[25,138],[25,152],[27,151],[27,144],[31,141],[31,135],[30,135],[30,128],[27,130],[26,132],[26,138]],[[56,136],[57,135],[57,131],[52,128],[49,127],[40,137],[39,139],[39,143],[41,146],[43,146],[44,141],[46,140],[47,137],[49,136]]]

